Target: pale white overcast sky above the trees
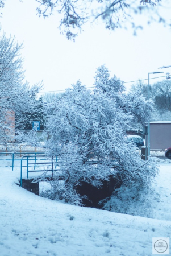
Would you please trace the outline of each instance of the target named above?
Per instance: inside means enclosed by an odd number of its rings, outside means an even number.
[[[78,79],[92,86],[95,70],[103,63],[124,82],[148,79],[148,72],[171,73],[171,68],[158,69],[171,65],[171,30],[161,24],[145,26],[137,36],[131,30],[86,26],[73,43],[60,35],[57,13],[44,20],[36,15],[36,6],[35,0],[7,0],[0,22],[6,35],[24,43],[26,79],[30,84],[43,79],[43,91],[64,90]],[[163,13],[170,16],[171,9]],[[143,17],[140,22],[145,25]]]

